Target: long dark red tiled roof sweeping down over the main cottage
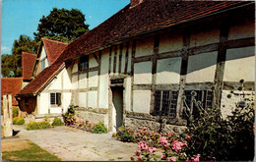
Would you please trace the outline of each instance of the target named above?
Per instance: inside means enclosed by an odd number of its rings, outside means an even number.
[[[104,23],[70,43],[53,63],[53,67],[50,66],[42,71],[20,94],[36,94],[42,85],[50,80],[47,77],[53,77],[66,59],[88,53],[116,41],[165,27],[173,27],[245,3],[247,2],[144,0],[143,3],[133,8],[127,5]]]

